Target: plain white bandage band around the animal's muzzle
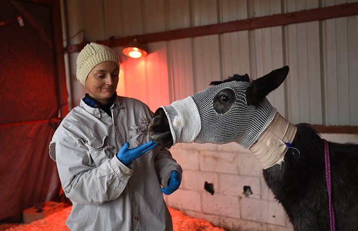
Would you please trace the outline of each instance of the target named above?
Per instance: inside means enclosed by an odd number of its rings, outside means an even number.
[[[162,106],[168,118],[173,146],[176,143],[193,143],[201,130],[197,105],[191,96]]]

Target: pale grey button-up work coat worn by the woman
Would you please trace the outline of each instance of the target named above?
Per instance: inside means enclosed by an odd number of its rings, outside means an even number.
[[[72,231],[172,231],[160,184],[182,169],[162,147],[143,154],[130,168],[116,157],[150,141],[152,112],[141,101],[118,96],[112,118],[81,100],[50,142],[62,187],[72,201],[66,225]]]

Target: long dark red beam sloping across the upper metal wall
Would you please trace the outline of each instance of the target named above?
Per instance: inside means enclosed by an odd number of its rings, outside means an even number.
[[[135,38],[139,39],[142,43],[152,43],[205,35],[223,34],[235,31],[253,30],[265,27],[283,26],[351,15],[358,15],[358,2],[142,35],[112,37],[108,40],[96,42],[106,44],[110,47],[119,47],[125,46]],[[66,48],[66,51],[69,53],[79,52],[82,48],[83,44],[69,45]]]

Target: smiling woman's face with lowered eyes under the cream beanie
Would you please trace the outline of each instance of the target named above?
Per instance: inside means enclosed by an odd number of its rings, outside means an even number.
[[[106,61],[95,66],[85,81],[89,96],[101,104],[107,104],[116,92],[118,75],[119,68],[115,62]]]

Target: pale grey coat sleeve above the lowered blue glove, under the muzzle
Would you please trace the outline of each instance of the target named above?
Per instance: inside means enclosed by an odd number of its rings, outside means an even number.
[[[177,163],[177,161],[172,157],[168,149],[164,147],[156,147],[156,157],[155,157],[155,169],[158,175],[160,184],[163,187],[168,186],[168,180],[170,177],[170,172],[176,170],[179,172],[180,178],[182,178],[182,168]]]

